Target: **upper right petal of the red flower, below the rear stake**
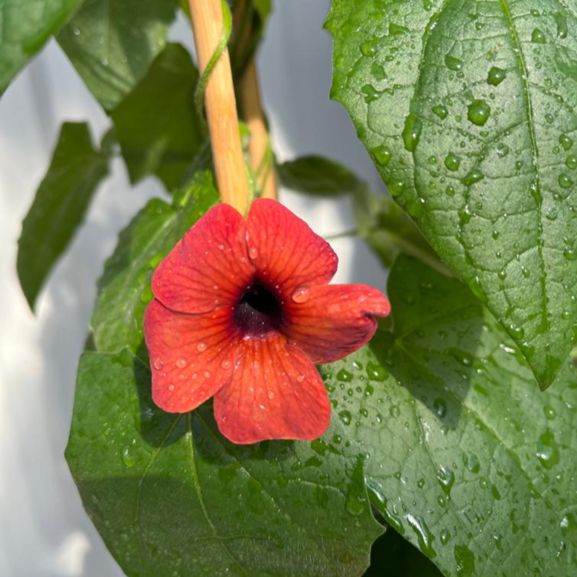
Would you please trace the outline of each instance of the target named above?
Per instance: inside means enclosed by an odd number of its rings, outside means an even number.
[[[250,205],[246,242],[257,271],[278,284],[285,299],[299,286],[325,284],[335,275],[338,258],[329,243],[275,200]]]

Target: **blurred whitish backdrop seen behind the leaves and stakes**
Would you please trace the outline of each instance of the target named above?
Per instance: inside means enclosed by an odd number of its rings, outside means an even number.
[[[322,26],[328,0],[277,0],[258,66],[280,160],[323,153],[379,186],[340,104],[328,99],[331,39]],[[179,18],[171,39],[192,44]],[[28,309],[16,277],[21,222],[50,162],[63,121],[88,121],[100,137],[109,121],[55,42],[0,100],[0,576],[119,577],[84,513],[63,458],[76,364],[95,282],[118,231],[148,198],[153,179],[131,189],[120,160],[100,188],[87,222]],[[283,191],[282,200],[319,234],[353,227],[346,201]],[[336,282],[384,289],[385,273],[360,241],[339,239]]]

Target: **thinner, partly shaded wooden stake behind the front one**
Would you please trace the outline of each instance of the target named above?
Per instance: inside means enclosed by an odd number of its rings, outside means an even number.
[[[257,186],[261,189],[263,198],[276,198],[275,173],[272,166],[272,156],[267,161],[269,139],[267,126],[264,122],[263,107],[258,90],[256,63],[251,59],[241,81],[242,116],[251,134],[249,142],[250,165],[253,171],[260,168]],[[264,162],[264,164],[263,164]],[[267,166],[268,162],[268,166]]]

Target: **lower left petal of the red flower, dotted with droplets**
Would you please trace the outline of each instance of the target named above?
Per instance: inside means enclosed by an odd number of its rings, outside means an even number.
[[[186,413],[211,398],[233,374],[238,336],[230,307],[182,314],[156,299],[144,315],[152,368],[152,400],[168,413]]]

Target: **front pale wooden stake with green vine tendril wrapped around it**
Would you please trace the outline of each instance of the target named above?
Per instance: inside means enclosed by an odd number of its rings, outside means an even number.
[[[220,0],[189,0],[189,5],[198,68],[202,73],[222,35],[222,6]],[[249,188],[228,50],[216,63],[204,98],[220,198],[244,215]]]

